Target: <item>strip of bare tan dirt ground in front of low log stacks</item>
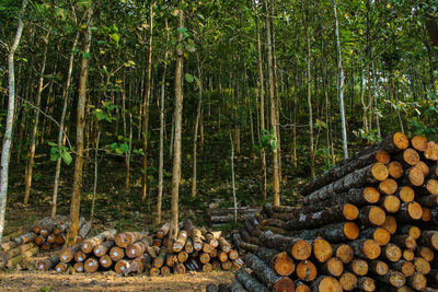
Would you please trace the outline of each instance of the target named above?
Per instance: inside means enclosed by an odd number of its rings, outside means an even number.
[[[229,283],[232,278],[232,272],[224,271],[169,277],[0,271],[0,291],[205,291],[209,283]]]

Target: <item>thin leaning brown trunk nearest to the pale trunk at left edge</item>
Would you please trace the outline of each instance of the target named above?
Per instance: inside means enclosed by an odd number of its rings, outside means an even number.
[[[48,47],[48,37],[50,35],[50,30],[48,30],[46,37],[44,39],[44,52],[43,52],[43,63],[39,71],[39,81],[38,81],[38,92],[36,93],[36,102],[35,106],[35,122],[32,128],[32,142],[31,148],[28,150],[28,163],[27,163],[27,172],[25,176],[26,188],[24,190],[24,203],[28,203],[28,197],[31,194],[32,186],[32,172],[34,167],[34,159],[35,159],[35,148],[36,148],[36,139],[38,136],[38,124],[39,124],[39,107],[41,107],[41,96],[44,90],[44,70],[46,69],[46,60],[47,60],[47,47]]]

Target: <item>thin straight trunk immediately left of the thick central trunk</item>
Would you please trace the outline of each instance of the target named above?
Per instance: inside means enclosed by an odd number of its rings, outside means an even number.
[[[161,223],[161,207],[163,201],[163,170],[164,170],[164,101],[165,101],[165,73],[168,71],[168,44],[169,44],[169,25],[165,22],[166,43],[164,52],[164,68],[161,78],[161,100],[160,100],[160,162],[158,170],[158,198],[157,198],[157,222]]]

